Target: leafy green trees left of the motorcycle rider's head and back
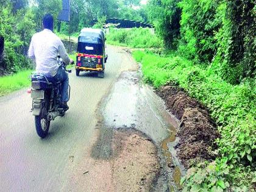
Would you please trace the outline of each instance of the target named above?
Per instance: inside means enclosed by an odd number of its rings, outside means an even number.
[[[1,68],[9,72],[16,72],[29,67],[24,54],[29,46],[30,38],[34,34],[35,24],[32,13],[25,10],[15,10],[11,4],[0,4],[0,36],[4,37],[5,54],[0,62]],[[16,21],[20,21],[16,23]]]

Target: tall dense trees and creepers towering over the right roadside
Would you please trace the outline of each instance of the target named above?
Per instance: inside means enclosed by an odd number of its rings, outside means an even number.
[[[211,63],[223,79],[238,84],[255,76],[255,6],[254,0],[151,0],[148,7],[166,45],[179,38],[180,54]]]

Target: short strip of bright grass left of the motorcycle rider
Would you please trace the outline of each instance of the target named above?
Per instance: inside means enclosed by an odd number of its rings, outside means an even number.
[[[0,96],[5,96],[24,87],[29,87],[29,76],[31,72],[32,70],[29,69],[10,76],[0,77]]]

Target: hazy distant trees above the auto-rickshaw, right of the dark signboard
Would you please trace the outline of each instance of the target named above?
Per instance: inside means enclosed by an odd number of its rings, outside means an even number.
[[[138,0],[73,0],[71,1],[70,23],[60,24],[57,31],[63,34],[73,34],[84,27],[92,27],[94,24],[100,24],[96,27],[101,28],[105,23],[105,18],[124,18],[144,22],[148,16],[146,7],[141,5],[140,9],[133,9],[138,5],[140,5]]]

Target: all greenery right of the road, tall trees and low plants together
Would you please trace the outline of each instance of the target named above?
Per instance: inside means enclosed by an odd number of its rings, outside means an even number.
[[[255,190],[256,4],[252,0],[150,0],[148,18],[171,55],[136,51],[144,79],[173,82],[218,124],[215,162],[190,169],[184,191]]]

